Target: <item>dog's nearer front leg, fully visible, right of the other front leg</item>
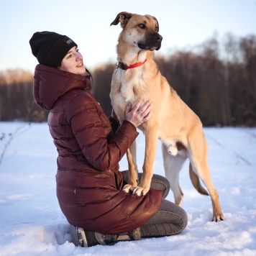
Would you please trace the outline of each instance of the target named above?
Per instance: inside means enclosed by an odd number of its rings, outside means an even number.
[[[147,127],[145,130],[145,159],[143,164],[143,174],[140,185],[134,189],[133,193],[137,196],[145,196],[150,190],[150,183],[155,164],[155,155],[157,152],[157,127]]]

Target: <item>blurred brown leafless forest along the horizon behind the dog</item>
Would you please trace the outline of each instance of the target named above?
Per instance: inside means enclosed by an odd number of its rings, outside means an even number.
[[[155,58],[160,71],[204,126],[256,126],[256,36],[227,34],[191,50]],[[109,92],[115,63],[91,70],[93,95],[111,113]],[[0,121],[45,122],[47,111],[33,99],[33,74],[0,72]],[[185,120],[186,121],[186,120]]]

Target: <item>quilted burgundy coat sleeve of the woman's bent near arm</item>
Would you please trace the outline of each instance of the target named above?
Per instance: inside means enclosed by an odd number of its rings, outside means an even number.
[[[109,140],[96,108],[97,101],[87,93],[70,101],[68,122],[88,163],[96,170],[108,170],[122,159],[138,133],[133,124],[125,121]]]

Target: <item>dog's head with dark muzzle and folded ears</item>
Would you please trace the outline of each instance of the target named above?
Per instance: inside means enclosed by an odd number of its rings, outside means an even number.
[[[163,37],[158,34],[159,24],[155,17],[120,12],[110,25],[117,25],[119,22],[123,29],[120,36],[125,42],[142,50],[160,49]]]

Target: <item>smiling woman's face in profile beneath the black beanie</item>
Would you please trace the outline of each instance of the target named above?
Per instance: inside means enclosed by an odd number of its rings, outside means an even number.
[[[86,68],[83,65],[83,56],[78,52],[78,48],[74,46],[65,55],[61,61],[60,70],[83,75],[86,73]]]

